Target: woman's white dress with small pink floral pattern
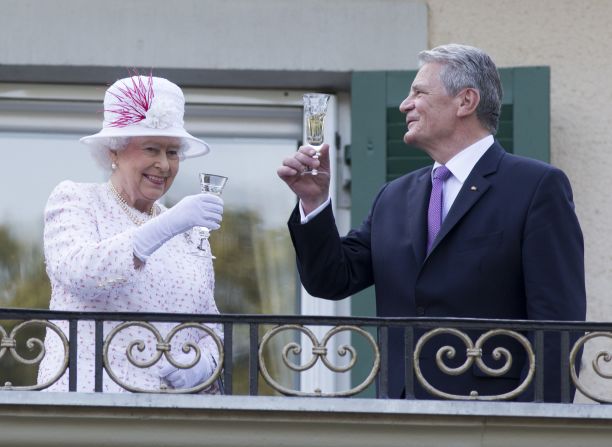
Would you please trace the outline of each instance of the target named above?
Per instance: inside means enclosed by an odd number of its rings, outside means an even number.
[[[159,205],[158,205],[159,206]],[[160,206],[162,212],[163,207]],[[134,210],[135,213],[138,213]],[[146,219],[147,214],[139,217]],[[120,207],[107,183],[64,181],[51,193],[45,209],[44,248],[52,294],[49,308],[72,311],[162,312],[218,314],[214,301],[214,272],[208,258],[192,256],[193,245],[184,234],[163,244],[144,267],[134,268],[132,235],[137,228]],[[68,324],[55,322],[68,337]],[[117,322],[105,323],[105,337]],[[162,337],[176,323],[155,323]],[[222,340],[219,325],[208,324]],[[78,326],[77,390],[94,390],[94,324]],[[123,383],[146,390],[159,390],[161,362],[137,368],[127,359],[131,342],[142,340],[143,352],[131,350],[140,361],[151,360],[156,339],[153,332],[130,326],[118,333],[108,350],[108,365]],[[198,328],[187,328],[170,340],[172,353],[180,354],[186,342],[197,343],[202,355],[218,364],[219,353],[213,338]],[[41,362],[38,383],[56,375],[64,358],[59,338],[47,330],[46,355]],[[193,350],[192,350],[193,352]],[[52,387],[68,390],[68,374]],[[106,373],[105,392],[124,392]],[[208,392],[217,392],[213,386]]]

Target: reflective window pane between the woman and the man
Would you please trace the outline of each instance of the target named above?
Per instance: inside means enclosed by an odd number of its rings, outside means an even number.
[[[212,232],[216,299],[222,312],[296,313],[295,255],[287,219],[295,195],[277,177],[294,140],[206,139],[210,154],[181,163],[169,204],[199,191],[198,173],[229,177],[221,229]]]

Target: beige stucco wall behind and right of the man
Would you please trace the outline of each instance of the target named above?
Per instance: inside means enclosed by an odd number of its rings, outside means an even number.
[[[486,50],[500,67],[551,67],[552,163],[567,173],[574,188],[585,238],[588,319],[611,321],[612,2],[427,3],[430,46],[465,43]],[[591,346],[586,354],[594,350]],[[587,375],[589,382],[597,382]]]

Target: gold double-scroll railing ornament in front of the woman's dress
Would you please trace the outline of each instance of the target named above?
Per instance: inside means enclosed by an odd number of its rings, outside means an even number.
[[[131,340],[128,343],[128,346],[126,349],[127,359],[132,365],[136,366],[137,368],[149,368],[155,365],[158,361],[160,361],[162,356],[166,358],[168,363],[170,363],[171,365],[179,369],[189,369],[192,366],[194,366],[200,360],[200,357],[202,355],[200,346],[198,346],[196,343],[185,342],[183,343],[181,347],[181,350],[185,354],[189,354],[193,350],[194,358],[189,363],[185,363],[185,364],[179,363],[178,361],[174,359],[171,353],[172,338],[178,332],[184,329],[189,329],[189,328],[199,329],[201,331],[206,332],[208,335],[212,337],[219,351],[219,363],[216,365],[216,368],[213,371],[212,375],[206,381],[192,388],[174,389],[174,388],[168,388],[162,384],[159,389],[144,389],[144,388],[140,388],[140,387],[131,385],[129,383],[125,383],[123,380],[121,380],[118,377],[115,371],[113,371],[109,358],[108,358],[108,351],[109,351],[109,347],[111,346],[111,343],[113,339],[115,338],[115,336],[119,334],[121,331],[127,328],[130,328],[130,327],[141,327],[143,329],[150,331],[155,337],[155,341],[156,341],[155,353],[153,354],[151,359],[146,360],[146,361],[139,360],[138,358],[134,356],[134,349],[137,349],[140,352],[145,351],[145,348],[146,348],[145,341],[142,339],[136,339],[136,340]],[[200,392],[210,387],[219,378],[221,371],[223,369],[223,362],[224,362],[223,342],[221,341],[219,336],[215,333],[215,331],[213,331],[208,326],[204,324],[200,324],[200,323],[179,324],[175,326],[174,328],[172,328],[172,330],[168,332],[167,337],[164,339],[164,337],[162,337],[162,335],[160,334],[159,330],[151,323],[148,323],[146,321],[126,321],[124,323],[121,323],[115,326],[109,332],[108,336],[106,337],[104,341],[104,348],[103,348],[103,362],[104,362],[104,368],[106,372],[108,373],[109,377],[120,387],[128,391],[137,392],[137,393],[167,393],[167,394],[197,393],[197,392]]]

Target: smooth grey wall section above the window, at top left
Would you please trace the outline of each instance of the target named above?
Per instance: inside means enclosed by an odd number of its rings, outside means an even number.
[[[422,1],[0,0],[0,10],[7,65],[405,69],[426,44]]]

